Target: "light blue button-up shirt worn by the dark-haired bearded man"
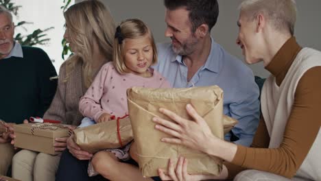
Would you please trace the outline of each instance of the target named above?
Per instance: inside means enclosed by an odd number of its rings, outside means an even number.
[[[231,56],[211,39],[211,52],[206,63],[187,82],[187,65],[171,49],[170,43],[158,44],[158,64],[162,73],[175,88],[217,85],[224,91],[224,114],[239,121],[233,134],[235,143],[250,146],[259,123],[259,87],[254,75],[241,60]],[[230,140],[230,133],[226,134]]]

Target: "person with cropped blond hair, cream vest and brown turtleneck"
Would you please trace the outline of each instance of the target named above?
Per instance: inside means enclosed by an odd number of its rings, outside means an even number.
[[[263,61],[271,73],[263,86],[262,117],[254,141],[251,147],[243,147],[219,140],[190,105],[187,111],[195,122],[161,110],[177,123],[167,125],[163,119],[154,119],[158,130],[176,136],[165,142],[226,162],[219,177],[191,176],[187,160],[180,158],[176,173],[169,163],[169,176],[162,170],[160,176],[163,180],[205,180],[233,178],[238,173],[237,181],[321,180],[321,52],[296,42],[294,0],[246,0],[240,10],[237,45],[246,62]],[[249,170],[239,173],[242,169]]]

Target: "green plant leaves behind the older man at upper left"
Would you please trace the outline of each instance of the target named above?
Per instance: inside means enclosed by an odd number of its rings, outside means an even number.
[[[3,7],[7,8],[10,12],[12,12],[13,16],[16,16],[18,19],[18,12],[19,8],[21,8],[21,5],[15,5],[11,0],[0,0],[0,5],[3,5]],[[27,30],[24,25],[32,24],[27,21],[19,21],[14,25],[14,27],[21,27]],[[53,27],[48,27],[46,29],[36,29],[32,34],[23,35],[21,33],[16,34],[14,39],[18,41],[21,45],[28,45],[28,46],[34,46],[34,45],[45,45],[49,42],[50,38],[46,38],[47,34],[50,29],[53,29]]]

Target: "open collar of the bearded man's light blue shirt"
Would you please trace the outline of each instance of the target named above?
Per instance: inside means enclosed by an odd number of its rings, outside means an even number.
[[[218,73],[219,72],[219,52],[217,51],[217,49],[219,49],[217,43],[215,43],[215,41],[213,40],[213,38],[211,37],[211,51],[209,53],[209,56],[207,57],[207,60],[204,64],[204,66],[202,67],[202,69],[208,69],[209,71],[213,71],[214,73]],[[213,60],[212,60],[213,59]],[[171,62],[177,61],[180,64],[184,64],[184,62],[182,62],[182,56],[177,55],[176,59],[171,60]]]

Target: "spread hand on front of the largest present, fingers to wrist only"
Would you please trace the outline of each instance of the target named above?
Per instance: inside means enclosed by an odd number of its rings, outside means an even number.
[[[187,104],[186,109],[194,121],[183,119],[170,110],[160,108],[160,112],[174,122],[154,117],[153,121],[157,123],[155,128],[174,136],[174,138],[162,138],[161,141],[165,143],[185,145],[191,149],[206,153],[207,149],[209,149],[208,142],[219,138],[212,134],[209,125],[190,104]]]

